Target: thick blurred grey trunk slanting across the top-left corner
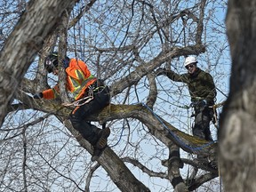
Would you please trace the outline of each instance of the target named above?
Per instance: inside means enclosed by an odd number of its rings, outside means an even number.
[[[62,12],[73,7],[76,0],[31,0],[28,9],[4,43],[0,53],[0,126],[8,103],[31,62],[44,44],[45,37],[56,28]]]

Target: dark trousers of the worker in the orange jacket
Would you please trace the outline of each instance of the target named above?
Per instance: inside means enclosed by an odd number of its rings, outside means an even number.
[[[110,96],[108,86],[97,92],[93,92],[93,100],[80,107],[76,107],[70,114],[69,119],[73,127],[82,134],[85,140],[95,145],[98,140],[98,132],[100,129],[85,121],[85,116],[90,116],[109,104]],[[83,101],[82,101],[83,102]]]

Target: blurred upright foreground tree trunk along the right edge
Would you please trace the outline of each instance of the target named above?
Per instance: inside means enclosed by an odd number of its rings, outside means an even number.
[[[226,191],[255,185],[255,1],[228,1],[226,19],[232,69],[220,122],[220,171]]]

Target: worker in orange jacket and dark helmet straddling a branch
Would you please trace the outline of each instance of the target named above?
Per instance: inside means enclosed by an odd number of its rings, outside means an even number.
[[[44,67],[48,73],[58,75],[58,52],[52,52],[44,61]],[[99,158],[101,152],[107,147],[109,127],[100,129],[97,126],[84,120],[94,112],[106,107],[109,104],[110,96],[108,86],[102,84],[97,77],[92,76],[90,70],[82,60],[69,59],[63,60],[63,67],[67,73],[66,87],[73,93],[76,108],[71,112],[69,119],[73,127],[80,132],[85,140],[93,146],[92,161]],[[35,99],[52,100],[59,96],[59,85],[56,84],[52,89],[36,93]]]

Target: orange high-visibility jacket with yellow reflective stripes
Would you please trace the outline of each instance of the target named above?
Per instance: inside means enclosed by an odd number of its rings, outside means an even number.
[[[79,100],[89,85],[96,81],[96,77],[91,75],[86,64],[82,60],[71,59],[68,68],[66,68],[67,83],[69,92],[73,93],[74,99]],[[52,89],[43,92],[44,99],[55,99],[59,95],[59,85],[56,84]]]

